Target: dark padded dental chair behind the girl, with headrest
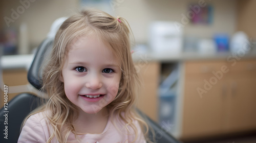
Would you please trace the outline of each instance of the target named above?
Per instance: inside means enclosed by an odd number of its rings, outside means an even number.
[[[59,20],[59,21],[58,21]],[[63,22],[65,19],[57,19],[58,22]],[[55,21],[55,23],[56,23]],[[62,23],[61,22],[61,23]],[[53,24],[54,25],[54,24]],[[53,26],[54,27],[54,26]],[[58,29],[56,27],[51,28],[53,30]],[[51,51],[53,46],[53,40],[54,40],[54,32],[53,34],[50,33],[48,37],[42,41],[42,43],[38,46],[36,55],[34,57],[34,60],[31,64],[31,67],[28,71],[28,81],[31,85],[33,85],[38,90],[42,87],[42,81],[41,81],[41,65],[42,61],[44,59],[47,59],[47,56],[49,55],[49,51]],[[3,98],[3,97],[1,97]],[[0,110],[0,142],[17,142],[19,133],[20,133],[20,127],[22,126],[22,122],[24,118],[33,111],[36,107],[39,106],[39,101],[41,100],[40,97],[35,96],[31,93],[21,93],[18,94],[15,98],[13,98],[8,103],[8,117],[4,116],[6,114],[5,108],[3,107]],[[156,142],[159,143],[180,143],[177,139],[175,139],[172,135],[170,135],[167,131],[162,129],[157,123],[155,123],[153,120],[151,120],[148,116],[143,114],[141,111],[138,110],[138,112],[146,118],[148,124],[152,127],[152,129],[155,131],[155,133],[161,132],[161,137],[156,138]],[[5,121],[8,121],[8,125],[5,125]],[[6,128],[8,126],[8,128]],[[6,130],[7,129],[7,130]],[[7,135],[7,138],[4,138]],[[152,132],[149,132],[150,138],[152,139]]]

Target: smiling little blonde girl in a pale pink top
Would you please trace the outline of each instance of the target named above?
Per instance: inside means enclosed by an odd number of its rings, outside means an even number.
[[[99,10],[66,19],[42,75],[49,100],[18,142],[146,142],[126,20]]]

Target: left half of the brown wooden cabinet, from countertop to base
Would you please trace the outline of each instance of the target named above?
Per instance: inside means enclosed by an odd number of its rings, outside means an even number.
[[[212,71],[220,70],[223,65],[225,65],[224,62],[186,63],[183,138],[221,133],[225,113],[223,110],[226,109],[224,104],[227,97],[226,75],[223,74],[218,79]],[[200,96],[199,88],[205,90],[206,93]]]

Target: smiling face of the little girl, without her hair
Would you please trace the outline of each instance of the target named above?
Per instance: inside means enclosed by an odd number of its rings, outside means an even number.
[[[70,44],[60,81],[67,98],[83,112],[94,114],[117,96],[121,69],[110,45],[91,37]]]

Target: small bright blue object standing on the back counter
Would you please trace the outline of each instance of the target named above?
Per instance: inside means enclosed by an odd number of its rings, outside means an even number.
[[[218,52],[228,52],[228,43],[229,43],[229,37],[227,34],[216,34],[214,36],[214,40],[217,44],[217,51]]]

